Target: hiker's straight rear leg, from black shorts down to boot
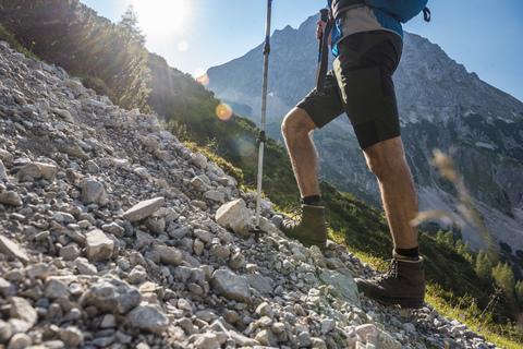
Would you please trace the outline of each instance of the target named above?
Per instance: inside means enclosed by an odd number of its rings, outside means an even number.
[[[421,308],[425,297],[424,261],[418,256],[417,230],[410,224],[417,214],[417,200],[400,139],[392,82],[401,51],[402,41],[397,35],[356,33],[338,45],[335,71],[345,112],[378,179],[394,242],[388,272],[372,279],[356,278],[357,288],[386,304]]]

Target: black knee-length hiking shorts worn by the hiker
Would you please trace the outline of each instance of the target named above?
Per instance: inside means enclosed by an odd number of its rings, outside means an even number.
[[[304,109],[318,129],[345,112],[362,149],[399,136],[392,74],[402,49],[402,38],[387,31],[343,38],[325,80],[325,94],[313,89],[296,107]]]

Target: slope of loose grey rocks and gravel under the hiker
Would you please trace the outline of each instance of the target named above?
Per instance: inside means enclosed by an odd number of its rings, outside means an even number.
[[[157,118],[0,43],[0,348],[495,348],[358,294]]]

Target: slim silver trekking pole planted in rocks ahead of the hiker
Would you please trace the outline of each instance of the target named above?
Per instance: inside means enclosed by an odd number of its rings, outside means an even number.
[[[269,70],[269,53],[270,53],[270,12],[272,0],[267,0],[267,22],[265,26],[265,45],[264,45],[264,85],[262,88],[262,120],[259,122],[259,135],[256,140],[259,147],[258,153],[258,188],[256,197],[256,228],[251,230],[255,233],[255,240],[258,241],[259,233],[264,232],[259,228],[259,206],[262,200],[262,179],[264,171],[264,146],[265,146],[265,113],[267,110],[267,75]]]

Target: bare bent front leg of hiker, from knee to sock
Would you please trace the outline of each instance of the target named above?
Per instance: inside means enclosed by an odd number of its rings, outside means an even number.
[[[293,108],[283,119],[281,133],[302,197],[319,195],[318,156],[309,132],[316,129],[308,113]]]

